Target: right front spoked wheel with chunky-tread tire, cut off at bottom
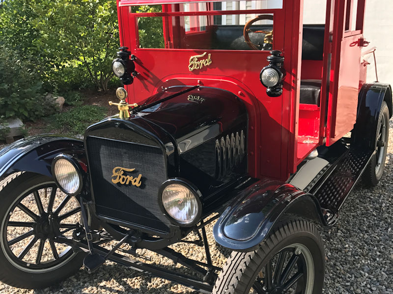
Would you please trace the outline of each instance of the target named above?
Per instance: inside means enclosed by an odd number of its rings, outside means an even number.
[[[213,294],[320,294],[325,254],[317,229],[289,221],[252,252],[233,252]]]

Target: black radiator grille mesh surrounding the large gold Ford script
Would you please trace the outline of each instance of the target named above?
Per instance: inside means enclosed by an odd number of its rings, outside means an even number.
[[[87,137],[86,145],[97,213],[168,232],[169,221],[158,205],[159,187],[167,180],[161,148],[97,137]],[[135,169],[123,175],[135,178],[141,174],[140,187],[132,181],[114,184],[116,167]]]

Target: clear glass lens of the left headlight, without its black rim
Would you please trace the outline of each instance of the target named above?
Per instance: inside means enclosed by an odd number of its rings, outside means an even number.
[[[81,179],[74,165],[65,158],[59,158],[55,162],[54,175],[58,185],[67,194],[76,194],[81,186]]]

